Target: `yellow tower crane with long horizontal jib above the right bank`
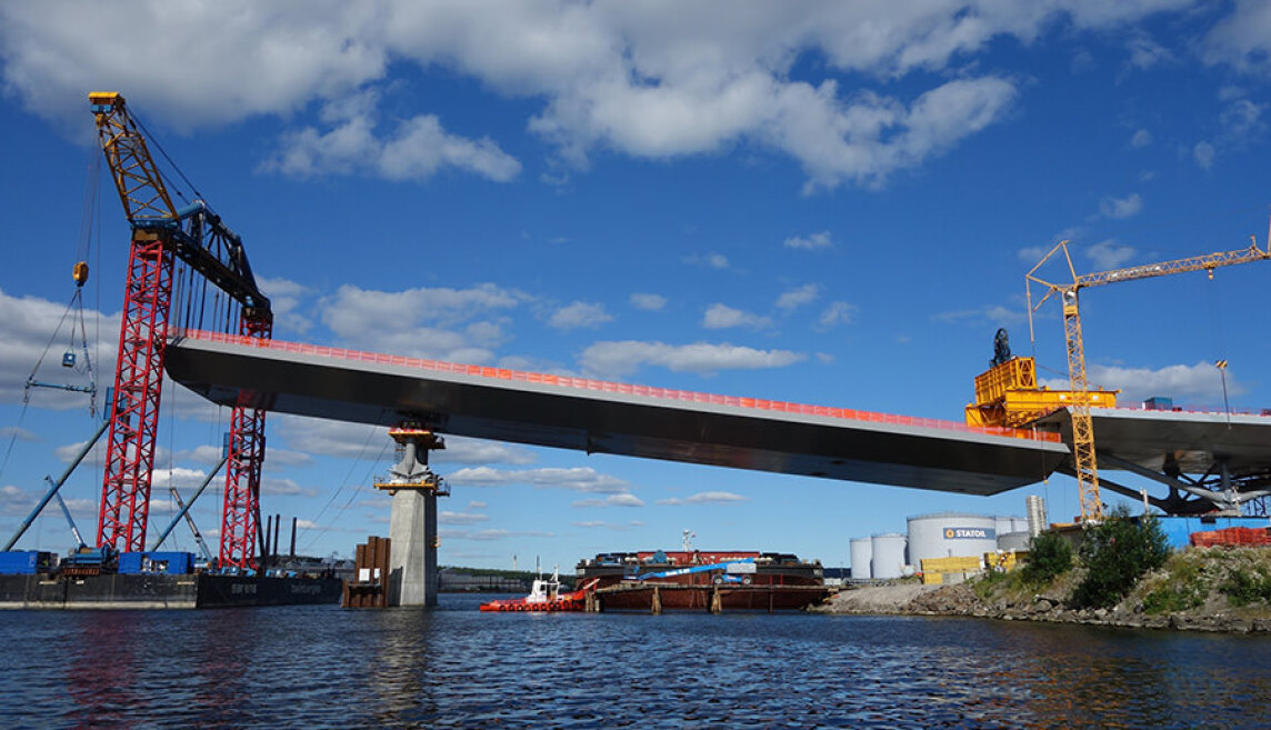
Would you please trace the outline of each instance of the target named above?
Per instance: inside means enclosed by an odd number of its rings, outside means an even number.
[[[1188,271],[1205,271],[1214,279],[1214,270],[1220,266],[1234,266],[1237,263],[1249,263],[1253,261],[1266,261],[1271,258],[1271,231],[1268,231],[1267,249],[1260,249],[1257,238],[1249,237],[1249,247],[1238,251],[1225,251],[1179,258],[1176,261],[1163,261],[1159,263],[1145,263],[1126,268],[1113,268],[1097,273],[1084,273],[1078,276],[1073,267],[1073,257],[1068,252],[1068,242],[1061,240],[1050,249],[1037,266],[1032,267],[1024,276],[1024,289],[1028,296],[1028,336],[1032,338],[1032,315],[1051,295],[1057,294],[1064,306],[1064,336],[1068,340],[1068,378],[1074,398],[1070,406],[1073,420],[1073,462],[1077,472],[1077,485],[1082,500],[1082,521],[1097,521],[1103,518],[1103,502],[1099,499],[1099,472],[1094,457],[1094,426],[1091,418],[1091,392],[1085,383],[1085,345],[1082,341],[1082,315],[1078,310],[1078,293],[1091,286],[1104,284],[1117,284],[1121,281],[1134,281],[1136,279],[1149,279],[1153,276],[1167,276],[1169,273],[1185,273]],[[1037,276],[1037,270],[1042,267],[1057,252],[1064,252],[1064,261],[1068,263],[1068,272],[1073,276],[1071,284],[1051,284]],[[1038,284],[1046,287],[1046,294],[1032,303],[1032,285]],[[1225,362],[1224,362],[1225,364]]]

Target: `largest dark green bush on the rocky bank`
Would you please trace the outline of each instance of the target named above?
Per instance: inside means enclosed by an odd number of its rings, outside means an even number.
[[[1108,608],[1148,571],[1166,565],[1169,544],[1155,519],[1131,519],[1129,507],[1120,506],[1085,530],[1080,553],[1087,570],[1073,600],[1085,608]]]

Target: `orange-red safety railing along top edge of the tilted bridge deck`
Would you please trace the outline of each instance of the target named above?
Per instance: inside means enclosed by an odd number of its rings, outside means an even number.
[[[675,401],[680,403],[709,403],[712,406],[732,406],[737,408],[775,411],[779,413],[799,413],[803,416],[821,416],[826,418],[845,418],[852,421],[866,421],[872,424],[894,424],[899,426],[920,426],[928,429],[943,429],[949,431],[963,431],[971,434],[991,434],[995,436],[1010,436],[1016,439],[1028,439],[1032,441],[1057,443],[1060,440],[1059,434],[1054,434],[1050,431],[1005,429],[999,426],[967,426],[966,424],[958,424],[956,421],[942,421],[939,418],[896,416],[892,413],[876,413],[873,411],[857,411],[854,408],[833,408],[829,406],[807,406],[803,403],[788,403],[785,401],[769,401],[764,398],[717,396],[713,393],[676,390],[672,388],[657,388],[653,385],[632,385],[629,383],[614,383],[611,380],[592,380],[590,378],[573,378],[569,375],[527,373],[525,370],[511,370],[508,368],[489,368],[487,365],[461,365],[458,362],[446,362],[444,360],[407,357],[404,355],[385,355],[383,352],[365,352],[361,350],[347,350],[344,347],[304,345],[300,342],[282,342],[278,340],[259,340],[253,337],[241,337],[238,334],[206,332],[202,329],[184,329],[179,331],[177,336],[178,337],[184,336],[193,340],[206,340],[208,342],[225,342],[230,345],[241,345],[245,347],[276,350],[280,352],[295,352],[297,355],[338,357],[342,360],[355,360],[358,362],[374,362],[376,365],[397,365],[402,368],[416,368],[419,370],[428,370],[431,373],[477,375],[480,378],[512,380],[517,383],[540,383],[544,385],[558,385],[562,388],[577,388],[580,390],[622,393],[624,396],[639,396],[646,398],[657,398],[661,401]]]

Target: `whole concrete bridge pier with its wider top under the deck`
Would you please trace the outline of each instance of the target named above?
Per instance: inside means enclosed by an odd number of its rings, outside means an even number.
[[[390,429],[398,463],[375,487],[393,495],[389,519],[389,605],[437,604],[437,497],[445,481],[428,469],[428,451],[444,449],[440,436],[413,424]]]

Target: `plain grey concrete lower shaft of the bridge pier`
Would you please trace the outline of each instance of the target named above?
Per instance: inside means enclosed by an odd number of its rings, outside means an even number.
[[[436,492],[397,490],[389,539],[389,605],[437,605]]]

